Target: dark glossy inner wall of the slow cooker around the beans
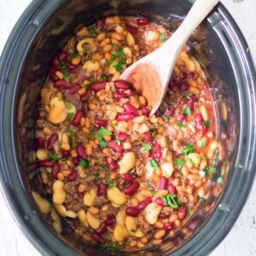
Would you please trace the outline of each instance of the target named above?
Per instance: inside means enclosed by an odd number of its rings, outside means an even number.
[[[37,117],[37,103],[39,98],[40,88],[44,84],[47,77],[50,61],[55,53],[67,43],[67,39],[73,34],[74,29],[83,24],[85,26],[93,24],[97,18],[107,15],[145,15],[150,20],[154,20],[163,24],[171,31],[175,31],[177,26],[183,20],[184,15],[189,11],[191,3],[189,1],[180,0],[143,0],[143,1],[63,1],[58,6],[44,24],[38,30],[35,38],[30,43],[25,61],[21,67],[21,76],[17,97],[15,102],[15,142],[17,143],[18,160],[20,164],[20,174],[26,182],[28,190],[35,189],[41,195],[45,195],[44,186],[40,178],[38,178],[37,165],[35,163],[35,119]],[[218,20],[218,19],[217,19]],[[218,20],[221,21],[221,20]],[[214,21],[216,22],[216,20]],[[229,141],[230,152],[228,159],[231,163],[236,154],[236,127],[238,117],[234,113],[238,113],[238,109],[234,102],[237,100],[236,90],[231,90],[236,84],[235,75],[232,71],[229,56],[226,54],[223,44],[218,39],[218,35],[212,28],[212,20],[209,19],[201,25],[189,39],[188,47],[200,61],[204,67],[207,79],[210,82],[216,113],[218,116],[218,137],[221,136],[225,127],[225,121],[229,125]],[[223,104],[226,104],[228,110],[228,120],[224,119]],[[231,112],[232,109],[232,112]],[[226,160],[227,161],[227,160]],[[223,161],[216,162],[218,172],[222,170]],[[218,173],[216,178],[218,178]],[[227,179],[229,176],[226,175]],[[150,250],[151,254],[160,255],[170,253],[176,250],[184,242],[188,241],[190,236],[194,236],[194,231],[201,230],[207,219],[214,211],[218,197],[209,196],[209,199],[204,202],[201,211],[197,212],[191,221],[187,224],[187,233],[180,231],[177,236],[163,242],[159,247]],[[46,196],[46,195],[45,195]],[[217,200],[214,200],[217,197]],[[210,210],[206,210],[210,208]],[[35,206],[35,209],[37,207]],[[42,216],[41,218],[44,218]],[[46,218],[44,221],[50,223],[51,220]],[[55,233],[55,230],[49,224],[49,230]],[[94,247],[89,247],[85,241],[79,241],[78,237],[71,236],[72,230],[64,225],[64,235],[59,236],[62,241],[72,244],[80,252],[84,250],[89,252],[94,251]],[[58,236],[55,233],[56,236]],[[72,239],[67,239],[67,236]],[[72,240],[72,241],[70,241]],[[173,247],[175,246],[175,247]],[[102,252],[98,252],[101,254]],[[143,254],[143,253],[142,253]]]

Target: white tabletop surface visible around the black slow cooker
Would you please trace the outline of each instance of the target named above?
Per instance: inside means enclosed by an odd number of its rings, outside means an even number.
[[[206,0],[207,1],[207,0]],[[235,2],[240,2],[236,0]],[[31,0],[0,0],[0,53],[3,50],[9,32],[16,20]],[[230,10],[241,28],[251,53],[256,56],[256,0],[244,0],[234,3],[221,1]],[[255,57],[254,57],[255,61]],[[230,234],[211,253],[211,256],[247,256],[256,255],[256,183]],[[40,256],[41,254],[26,240],[15,224],[0,193],[0,256]]]

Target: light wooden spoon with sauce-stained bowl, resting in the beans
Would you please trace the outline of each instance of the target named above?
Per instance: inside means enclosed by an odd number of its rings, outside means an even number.
[[[143,95],[153,115],[163,101],[173,67],[184,44],[195,28],[200,25],[220,0],[196,0],[181,26],[166,43],[139,61],[136,61],[121,74],[120,79],[133,84]]]

